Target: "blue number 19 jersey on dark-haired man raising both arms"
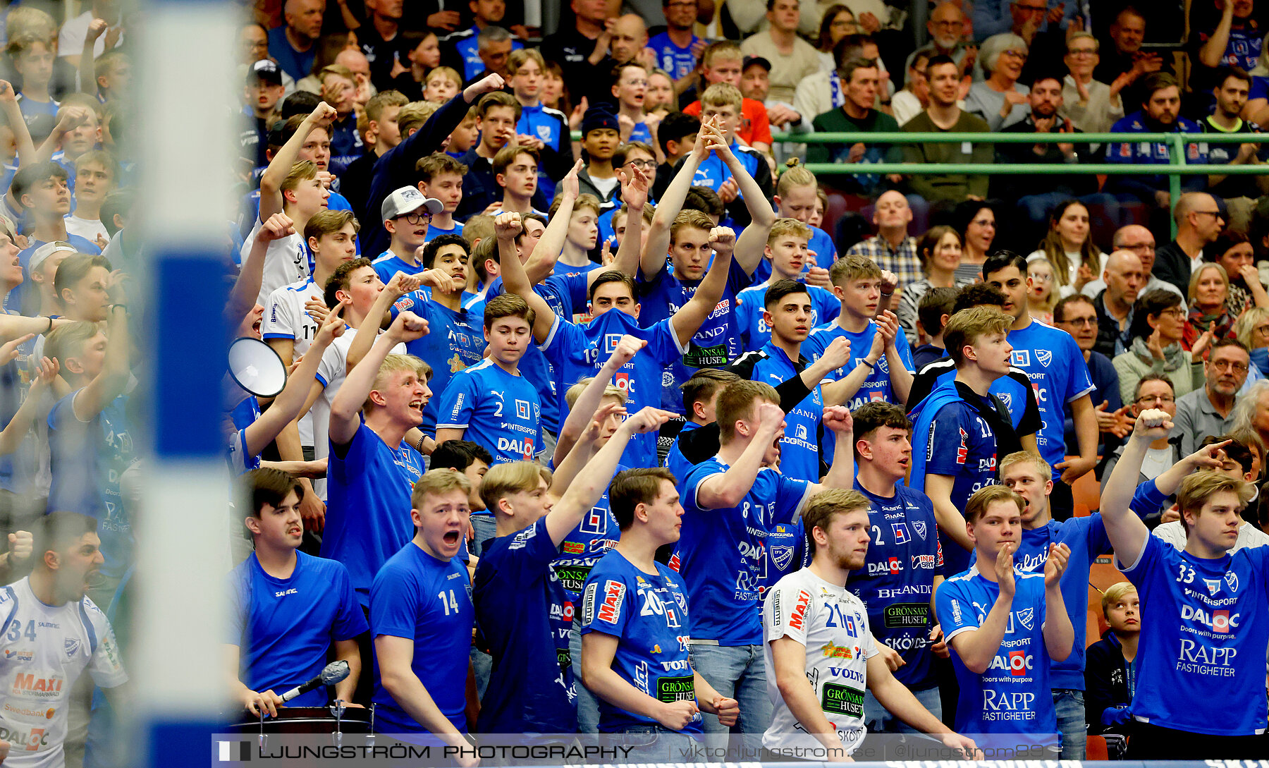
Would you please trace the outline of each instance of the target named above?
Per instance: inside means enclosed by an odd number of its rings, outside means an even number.
[[[621,367],[613,376],[613,383],[626,390],[627,411],[633,414],[650,405],[659,407],[661,372],[687,352],[679,345],[679,335],[670,322],[662,320],[651,328],[640,328],[622,310],[608,310],[586,325],[575,325],[557,316],[551,334],[538,348],[555,367],[561,421],[569,413],[569,405],[563,401],[569,387],[588,376],[598,374],[627,334],[647,341],[647,347]],[[632,437],[622,454],[622,463],[629,467],[657,466],[656,435],[647,433]]]

